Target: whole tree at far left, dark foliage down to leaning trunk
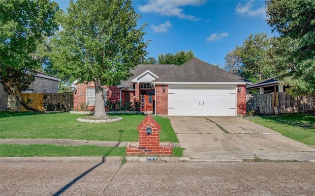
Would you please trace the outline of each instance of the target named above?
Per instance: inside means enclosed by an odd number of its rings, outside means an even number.
[[[54,18],[58,10],[58,4],[49,0],[0,0],[0,82],[30,110],[35,109],[21,91],[34,80],[28,70],[40,70],[35,53],[44,37],[58,29]]]

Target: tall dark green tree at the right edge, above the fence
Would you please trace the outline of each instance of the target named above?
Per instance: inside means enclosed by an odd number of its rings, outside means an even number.
[[[288,92],[302,95],[315,92],[315,1],[267,0],[267,23],[280,33],[275,57],[288,70],[284,84]]]

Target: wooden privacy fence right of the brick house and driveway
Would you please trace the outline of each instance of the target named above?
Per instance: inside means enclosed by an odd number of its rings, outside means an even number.
[[[315,94],[293,97],[285,92],[272,92],[262,95],[246,95],[246,111],[259,107],[261,114],[274,114],[274,107],[279,113],[298,113],[314,110]]]

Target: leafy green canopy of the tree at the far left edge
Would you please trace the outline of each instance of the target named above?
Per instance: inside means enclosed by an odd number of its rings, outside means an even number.
[[[38,68],[32,55],[43,38],[58,28],[54,17],[58,9],[49,0],[0,0],[1,76],[8,67]]]

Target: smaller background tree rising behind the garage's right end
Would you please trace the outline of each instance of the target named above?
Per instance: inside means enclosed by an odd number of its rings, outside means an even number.
[[[225,56],[224,69],[251,82],[274,76],[277,73],[267,56],[271,40],[266,33],[251,34],[242,46],[236,46]]]

